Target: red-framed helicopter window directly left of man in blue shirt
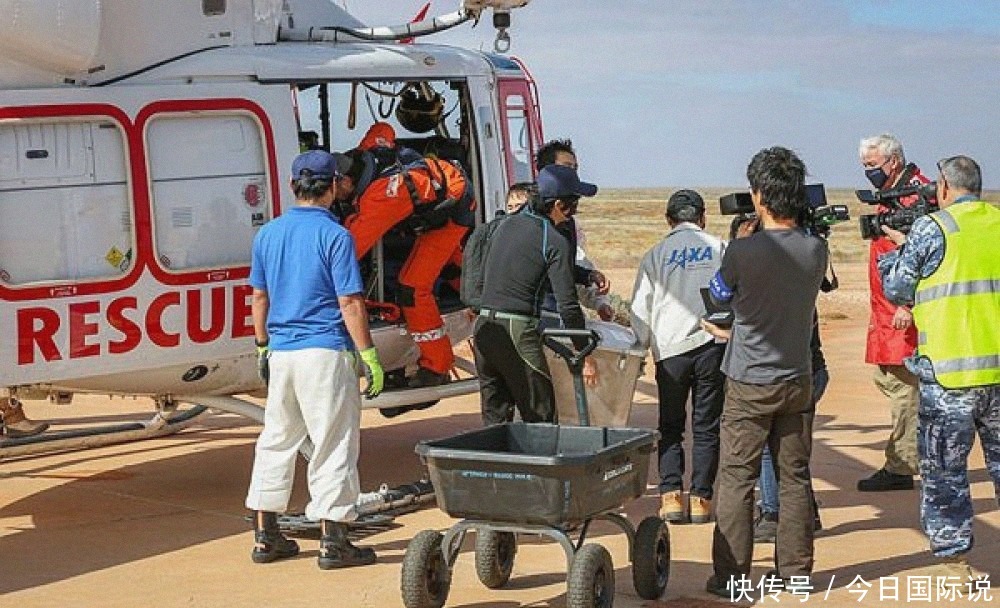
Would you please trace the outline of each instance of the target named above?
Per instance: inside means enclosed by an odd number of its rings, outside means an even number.
[[[261,130],[239,112],[154,117],[146,130],[156,257],[167,270],[245,266],[271,217]]]

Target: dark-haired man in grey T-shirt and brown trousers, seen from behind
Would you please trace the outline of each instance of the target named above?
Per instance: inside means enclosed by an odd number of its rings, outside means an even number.
[[[813,568],[809,342],[829,253],[825,241],[798,225],[807,205],[805,174],[805,165],[786,148],[753,157],[747,179],[764,229],[729,244],[710,284],[713,298],[731,301],[735,313],[722,361],[727,379],[712,539],[715,574],[706,584],[709,593],[725,598],[750,575],[753,488],[765,443],[781,488],[773,576],[808,578]]]

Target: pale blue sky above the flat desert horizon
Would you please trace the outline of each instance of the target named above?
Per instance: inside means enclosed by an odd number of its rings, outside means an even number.
[[[390,25],[423,3],[346,6]],[[858,142],[888,131],[925,171],[968,154],[1000,188],[1000,0],[533,0],[512,17],[546,137],[571,137],[606,187],[743,186],[771,145],[812,181],[863,187]],[[493,36],[484,21],[432,40]]]

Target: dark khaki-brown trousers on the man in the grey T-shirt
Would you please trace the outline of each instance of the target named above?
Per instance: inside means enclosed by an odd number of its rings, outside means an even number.
[[[783,578],[812,573],[815,514],[809,484],[811,393],[809,376],[767,385],[726,380],[712,538],[712,564],[721,581],[750,575],[753,489],[765,443],[778,477],[778,572]]]

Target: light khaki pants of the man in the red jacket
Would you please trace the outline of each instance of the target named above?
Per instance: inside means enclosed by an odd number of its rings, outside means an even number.
[[[902,365],[879,365],[875,386],[892,404],[892,431],[885,445],[885,470],[896,475],[917,475],[917,377]]]

